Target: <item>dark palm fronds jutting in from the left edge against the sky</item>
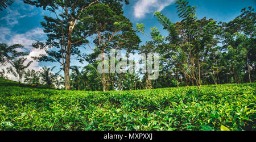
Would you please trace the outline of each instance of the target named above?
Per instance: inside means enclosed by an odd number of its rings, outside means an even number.
[[[20,56],[28,55],[26,52],[17,52],[16,48],[23,48],[21,44],[8,46],[6,43],[0,43],[0,64],[4,65],[7,61],[13,60]]]

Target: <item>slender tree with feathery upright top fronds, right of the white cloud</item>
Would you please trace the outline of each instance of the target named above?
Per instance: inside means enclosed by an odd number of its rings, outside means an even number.
[[[208,48],[214,47],[214,33],[216,32],[216,21],[213,19],[197,19],[195,6],[188,5],[188,1],[177,0],[177,12],[181,22],[171,21],[155,12],[156,18],[163,25],[164,29],[170,32],[166,38],[169,41],[167,51],[170,57],[176,62],[177,68],[183,73],[187,82],[195,82],[200,89],[201,85],[201,62],[204,55],[207,55]]]

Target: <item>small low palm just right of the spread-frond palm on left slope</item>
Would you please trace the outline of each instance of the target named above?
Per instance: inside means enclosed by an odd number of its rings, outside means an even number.
[[[40,83],[39,71],[35,72],[34,69],[32,70],[28,69],[27,72],[25,72],[24,79],[25,79],[24,82],[38,85]]]

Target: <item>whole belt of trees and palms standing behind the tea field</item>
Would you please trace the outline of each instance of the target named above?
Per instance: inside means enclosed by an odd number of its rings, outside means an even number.
[[[1,3],[1,9],[13,1]],[[255,12],[253,7],[241,10],[232,21],[216,20],[196,16],[196,6],[188,1],[175,1],[181,19],[172,23],[156,11],[154,16],[169,34],[164,37],[158,28],[152,27],[150,34],[144,24],[136,27],[123,15],[122,6],[129,1],[33,1],[24,3],[52,13],[41,22],[47,41],[37,41],[34,48],[45,49],[46,54],[34,57],[35,61],[58,62],[60,72],[44,66],[40,71],[27,69],[24,65],[26,52],[20,44],[1,43],[1,77],[11,73],[19,82],[65,90],[138,90],[177,86],[197,86],[255,82]],[[137,35],[142,33],[151,41],[141,44]],[[92,43],[94,46],[89,45]],[[90,47],[92,53],[85,54],[81,48]],[[110,50],[130,53],[158,53],[160,56],[159,77],[148,80],[148,73],[99,73],[97,55]],[[72,64],[71,58],[88,62],[86,66]],[[117,64],[118,60],[115,61]],[[110,62],[109,62],[110,64]],[[53,67],[56,68],[56,67]],[[64,77],[61,76],[64,72]]]

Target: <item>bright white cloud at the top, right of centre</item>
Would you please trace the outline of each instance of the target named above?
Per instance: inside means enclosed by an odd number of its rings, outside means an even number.
[[[134,5],[134,16],[144,18],[148,13],[162,11],[164,7],[171,5],[174,0],[138,0]]]

